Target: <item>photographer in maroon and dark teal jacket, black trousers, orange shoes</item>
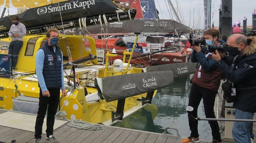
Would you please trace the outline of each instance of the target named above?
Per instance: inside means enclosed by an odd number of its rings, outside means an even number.
[[[198,62],[200,65],[192,78],[188,106],[193,107],[193,111],[188,111],[188,121],[191,130],[190,137],[181,143],[199,142],[198,121],[191,118],[197,117],[197,110],[203,98],[204,112],[206,118],[216,118],[214,115],[214,101],[221,81],[221,71],[218,69],[216,61],[211,57],[208,50],[210,45],[223,44],[219,40],[219,30],[211,28],[205,31],[204,38],[206,45],[201,48],[201,43],[195,45],[191,54],[191,62]],[[221,143],[219,124],[217,121],[209,121],[213,136],[213,143]]]

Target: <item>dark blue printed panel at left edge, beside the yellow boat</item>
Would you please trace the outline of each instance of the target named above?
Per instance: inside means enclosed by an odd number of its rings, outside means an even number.
[[[0,77],[9,78],[10,72],[10,58],[9,55],[0,54]]]

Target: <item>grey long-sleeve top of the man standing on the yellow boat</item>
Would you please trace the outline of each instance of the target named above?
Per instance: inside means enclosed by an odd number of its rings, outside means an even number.
[[[18,34],[17,37],[12,37],[12,34]],[[23,37],[26,36],[26,27],[24,24],[20,23],[18,25],[12,24],[9,33],[9,37],[12,38],[12,41],[23,41]]]

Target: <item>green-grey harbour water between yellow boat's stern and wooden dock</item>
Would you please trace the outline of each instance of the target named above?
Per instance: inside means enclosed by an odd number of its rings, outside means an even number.
[[[165,127],[177,128],[180,136],[190,136],[188,125],[188,98],[190,94],[190,79],[175,79],[173,85],[159,89],[151,105],[147,105],[129,117],[113,126],[163,133]],[[203,100],[198,107],[198,117],[205,117]],[[199,138],[212,140],[208,121],[198,121]],[[175,130],[168,129],[169,134],[176,135]]]

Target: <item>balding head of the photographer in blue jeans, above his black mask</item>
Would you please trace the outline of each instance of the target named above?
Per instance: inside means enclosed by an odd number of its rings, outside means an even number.
[[[241,51],[247,47],[247,39],[242,34],[233,34],[228,37],[227,44],[229,47],[238,47],[238,50]]]

